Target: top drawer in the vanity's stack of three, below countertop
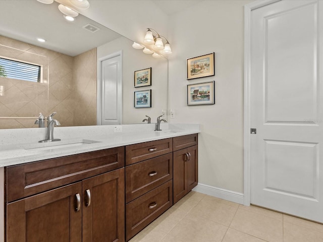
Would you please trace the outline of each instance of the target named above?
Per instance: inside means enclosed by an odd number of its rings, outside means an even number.
[[[173,151],[173,139],[155,140],[126,146],[126,165]]]

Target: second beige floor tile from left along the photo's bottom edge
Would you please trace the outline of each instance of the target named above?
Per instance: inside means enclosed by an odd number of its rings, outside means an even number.
[[[201,217],[187,215],[169,233],[185,242],[221,242],[228,227]]]

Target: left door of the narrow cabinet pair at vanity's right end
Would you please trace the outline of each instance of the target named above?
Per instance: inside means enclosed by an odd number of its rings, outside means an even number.
[[[186,159],[187,149],[173,153],[173,201],[174,204],[187,194]]]

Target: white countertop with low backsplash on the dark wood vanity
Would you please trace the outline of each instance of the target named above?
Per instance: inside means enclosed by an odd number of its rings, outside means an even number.
[[[200,132],[198,124],[160,124],[160,132],[154,124],[121,126],[121,133],[115,126],[55,127],[54,138],[61,141],[48,143],[38,143],[46,128],[0,130],[0,167]]]

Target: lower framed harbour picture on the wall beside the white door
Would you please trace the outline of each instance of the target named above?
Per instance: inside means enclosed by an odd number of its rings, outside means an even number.
[[[214,104],[214,81],[187,85],[187,105]]]

